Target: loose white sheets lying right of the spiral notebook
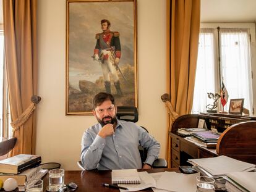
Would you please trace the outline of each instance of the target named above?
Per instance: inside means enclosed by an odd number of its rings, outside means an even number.
[[[176,172],[148,173],[139,172],[140,184],[121,184],[129,190],[120,191],[140,191],[145,188],[152,188],[155,192],[176,191],[176,192],[195,192],[197,190],[196,177],[200,173],[184,174]],[[186,185],[184,185],[186,183]]]

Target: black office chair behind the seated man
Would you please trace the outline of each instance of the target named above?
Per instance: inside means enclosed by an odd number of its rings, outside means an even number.
[[[128,122],[137,122],[139,120],[138,110],[137,107],[130,107],[130,106],[117,106],[117,119],[126,120]],[[140,126],[142,127],[142,126]],[[142,127],[144,130],[147,130],[147,128]],[[143,148],[142,146],[139,146],[140,151],[140,158],[143,162],[147,159],[148,150],[146,148]],[[166,168],[167,162],[165,159],[158,158],[153,162],[153,168]]]

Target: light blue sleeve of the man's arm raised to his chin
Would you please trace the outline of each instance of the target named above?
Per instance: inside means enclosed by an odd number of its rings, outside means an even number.
[[[93,140],[88,131],[83,133],[80,158],[82,165],[86,170],[96,169],[98,162],[100,162],[105,144],[106,140],[101,138],[101,136],[96,135]]]

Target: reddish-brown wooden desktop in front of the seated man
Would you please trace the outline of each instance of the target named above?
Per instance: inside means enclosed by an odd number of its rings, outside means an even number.
[[[145,171],[145,170],[139,170]],[[178,169],[148,169],[148,173],[164,172],[164,171],[175,171],[179,172]],[[49,174],[43,178],[43,191],[46,186],[49,185]],[[77,183],[79,186],[76,192],[92,192],[92,191],[119,191],[118,189],[108,188],[101,183],[111,183],[111,170],[92,170],[92,171],[80,171],[80,170],[65,170],[64,182]],[[147,188],[143,191],[152,191],[151,188]]]

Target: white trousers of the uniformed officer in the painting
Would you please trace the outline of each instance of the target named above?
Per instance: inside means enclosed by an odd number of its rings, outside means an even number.
[[[110,81],[109,72],[111,73],[114,83],[119,80],[117,75],[116,65],[114,64],[114,52],[111,50],[103,49],[100,52],[101,69],[105,81]]]

